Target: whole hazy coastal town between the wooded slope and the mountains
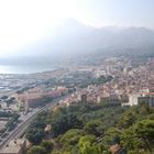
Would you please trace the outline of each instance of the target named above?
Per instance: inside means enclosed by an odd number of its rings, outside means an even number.
[[[99,102],[154,106],[153,66],[154,58],[140,63],[121,56],[91,66],[0,75],[0,154],[22,154],[28,146],[24,133],[29,124],[38,112],[50,108]]]

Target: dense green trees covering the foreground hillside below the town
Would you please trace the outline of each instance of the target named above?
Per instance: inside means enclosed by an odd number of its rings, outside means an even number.
[[[51,124],[51,133],[44,129]],[[44,140],[45,138],[51,140]],[[26,133],[28,154],[128,154],[154,152],[154,108],[145,105],[76,105],[41,113]]]

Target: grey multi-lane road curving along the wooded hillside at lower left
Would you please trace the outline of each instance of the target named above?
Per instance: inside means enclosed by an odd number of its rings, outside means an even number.
[[[30,123],[35,119],[35,117],[37,116],[37,113],[41,113],[42,111],[52,109],[54,106],[57,105],[57,102],[59,102],[59,100],[65,99],[68,96],[64,96],[61,98],[55,99],[53,102],[46,105],[45,107],[42,108],[37,108],[34,109],[33,112],[26,116],[26,118],[24,119],[24,121],[22,121],[12,132],[10,132],[10,134],[0,143],[0,150],[3,148],[11,140],[13,139],[19,139],[21,138],[28,127],[30,125]]]

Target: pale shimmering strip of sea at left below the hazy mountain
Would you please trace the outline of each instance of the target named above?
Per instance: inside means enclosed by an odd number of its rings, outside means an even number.
[[[52,65],[0,65],[0,74],[33,74],[54,69]]]

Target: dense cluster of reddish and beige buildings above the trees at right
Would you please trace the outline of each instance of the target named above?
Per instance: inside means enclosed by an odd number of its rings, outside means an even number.
[[[133,106],[145,102],[154,106],[154,59],[144,65],[134,67],[125,58],[107,59],[99,68],[92,68],[92,76],[112,75],[113,79],[103,85],[89,85],[77,89],[69,98],[64,100],[67,105],[79,102],[86,95],[87,102],[121,103]]]

